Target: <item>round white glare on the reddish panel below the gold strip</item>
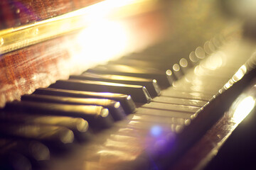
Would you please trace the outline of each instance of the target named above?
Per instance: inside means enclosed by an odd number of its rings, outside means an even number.
[[[80,32],[77,37],[78,47],[75,52],[77,65],[93,67],[122,55],[127,47],[129,33],[122,23],[102,19]],[[89,64],[90,65],[87,65]]]

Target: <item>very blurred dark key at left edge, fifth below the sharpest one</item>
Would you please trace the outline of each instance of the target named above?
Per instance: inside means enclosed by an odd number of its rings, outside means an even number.
[[[39,140],[48,147],[65,147],[73,143],[74,135],[68,128],[54,125],[24,125],[14,123],[0,124],[1,137]]]

